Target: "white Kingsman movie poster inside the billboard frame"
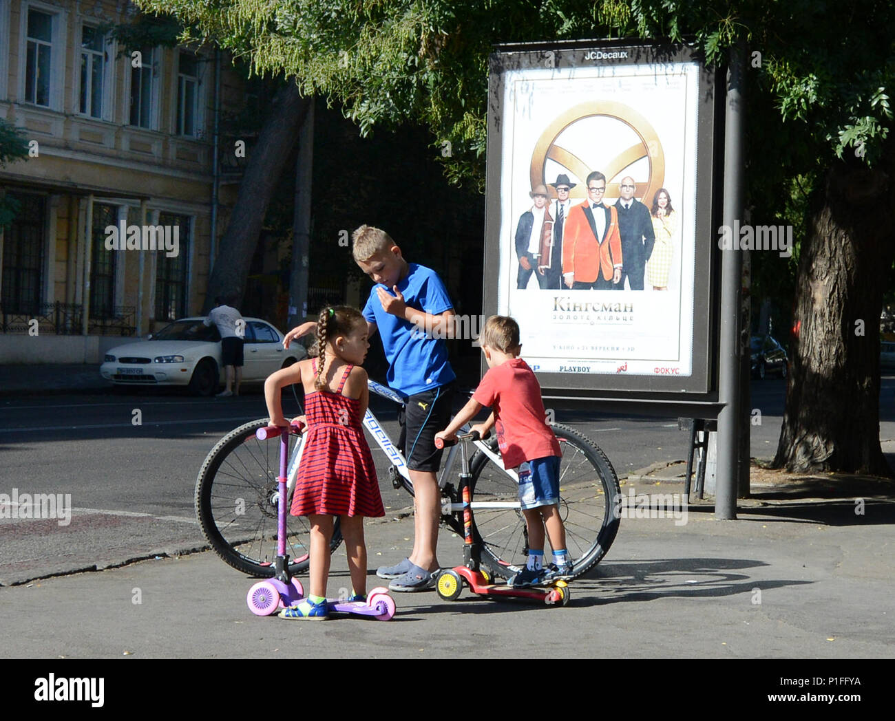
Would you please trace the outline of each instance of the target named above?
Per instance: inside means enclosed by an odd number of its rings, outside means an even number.
[[[504,72],[497,304],[539,373],[694,372],[699,80],[696,62]]]

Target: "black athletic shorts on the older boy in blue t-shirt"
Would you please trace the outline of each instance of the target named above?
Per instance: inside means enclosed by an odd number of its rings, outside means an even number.
[[[442,450],[435,447],[435,434],[447,428],[454,400],[454,384],[411,395],[400,411],[398,447],[404,451],[411,471],[439,472]]]

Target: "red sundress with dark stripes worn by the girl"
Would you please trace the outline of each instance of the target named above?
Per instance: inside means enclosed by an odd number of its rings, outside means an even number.
[[[342,395],[352,368],[345,368],[336,393],[324,390],[304,396],[308,430],[290,511],[295,516],[386,514],[373,456],[363,437],[360,402]]]

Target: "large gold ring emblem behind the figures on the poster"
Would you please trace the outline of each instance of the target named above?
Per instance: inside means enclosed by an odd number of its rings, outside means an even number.
[[[609,160],[605,167],[592,168],[582,160],[575,156],[566,148],[562,148],[556,144],[559,135],[562,134],[570,125],[573,125],[584,118],[601,115],[617,120],[619,123],[625,123],[631,130],[635,131],[637,137],[640,138],[639,143],[635,143],[630,148],[623,149],[616,157]],[[547,128],[541,133],[541,137],[534,146],[532,154],[532,170],[531,180],[532,187],[547,184],[548,179],[544,172],[547,167],[547,161],[552,160],[561,165],[564,170],[575,177],[580,178],[582,182],[578,183],[569,193],[572,198],[585,198],[584,179],[587,174],[594,170],[599,170],[607,178],[606,197],[618,197],[618,186],[612,187],[609,182],[616,175],[621,173],[628,165],[638,160],[646,158],[650,166],[650,174],[645,185],[643,178],[635,178],[637,183],[637,191],[635,197],[640,198],[647,206],[652,205],[652,196],[662,187],[665,182],[665,153],[662,151],[661,142],[652,125],[633,108],[622,103],[612,100],[593,100],[589,103],[582,103],[575,107],[569,108],[565,113],[559,115]],[[550,195],[556,196],[556,191],[550,189]]]

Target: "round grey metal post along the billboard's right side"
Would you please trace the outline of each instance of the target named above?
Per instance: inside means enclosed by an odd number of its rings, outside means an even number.
[[[724,211],[728,228],[743,211],[743,116],[746,53],[741,45],[730,50],[727,105],[724,123]],[[743,267],[741,250],[721,252],[721,307],[718,401],[718,481],[715,517],[737,517],[737,477],[740,417],[740,288]]]

